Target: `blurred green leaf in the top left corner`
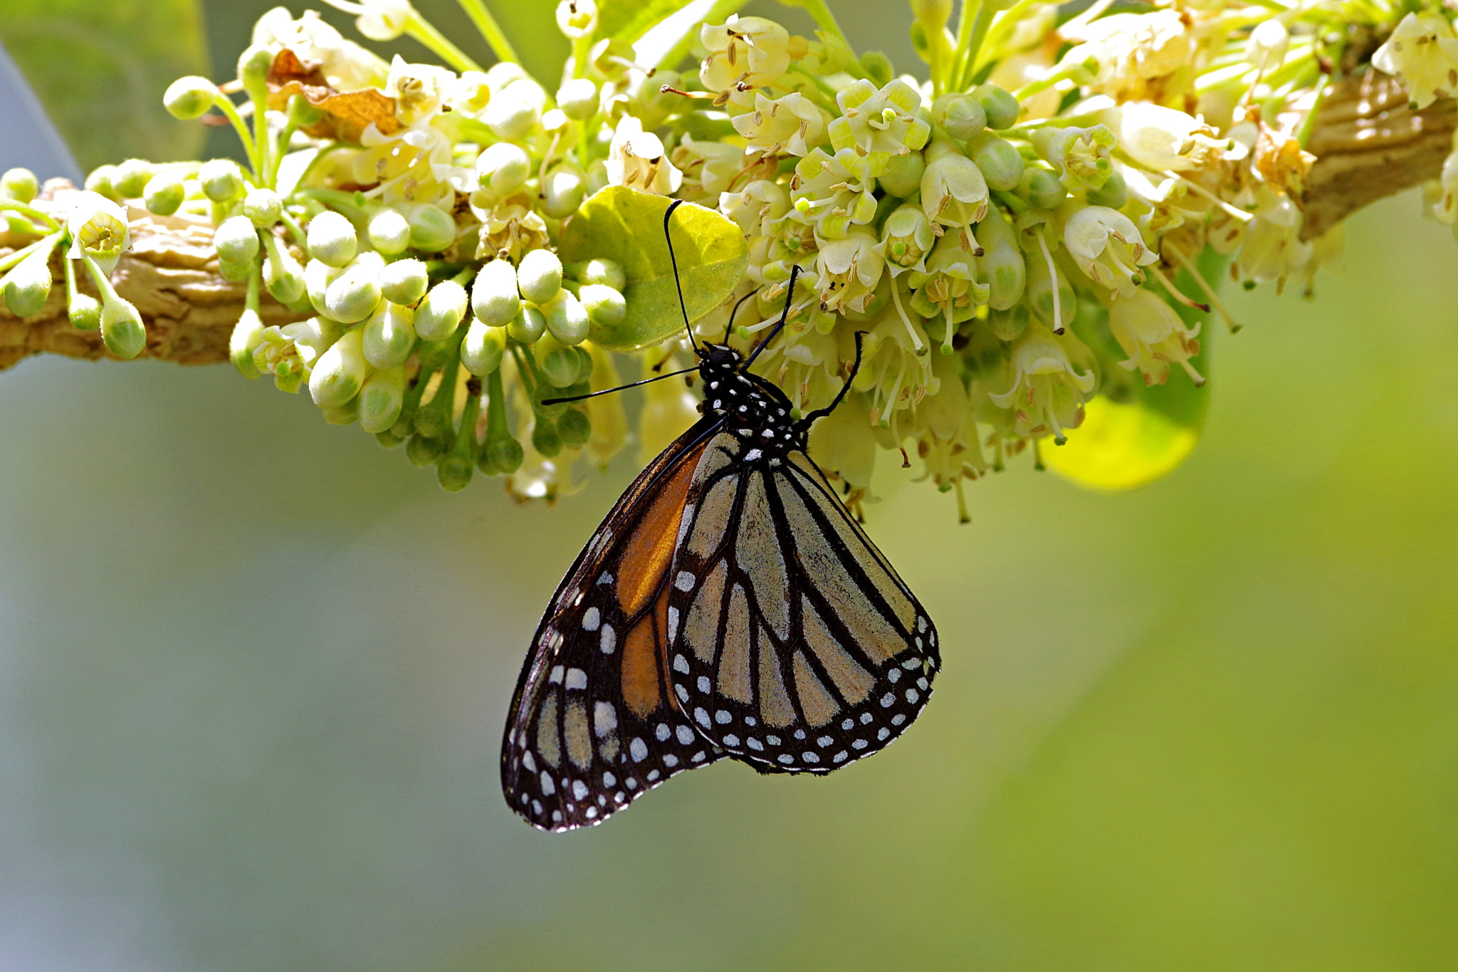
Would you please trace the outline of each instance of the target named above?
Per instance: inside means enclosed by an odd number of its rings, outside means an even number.
[[[207,134],[162,92],[210,73],[197,0],[4,0],[0,42],[86,171],[195,157]]]

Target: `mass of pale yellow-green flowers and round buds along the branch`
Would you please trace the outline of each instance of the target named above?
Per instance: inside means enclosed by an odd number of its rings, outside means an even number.
[[[881,449],[903,465],[914,453],[961,503],[964,479],[1061,444],[1094,396],[1201,386],[1201,315],[1213,306],[1235,329],[1200,273],[1212,254],[1248,287],[1309,289],[1340,252],[1340,226],[1308,239],[1301,210],[1303,141],[1349,44],[1331,29],[1346,15],[1315,0],[1280,16],[1095,3],[1063,25],[1053,3],[1016,3],[955,35],[951,3],[916,0],[924,82],[857,55],[821,3],[805,4],[814,38],[730,16],[646,54],[599,29],[593,0],[563,0],[573,55],[555,90],[518,66],[484,7],[502,58],[490,70],[407,0],[328,1],[364,36],[410,34],[449,67],[385,63],[313,13],[273,10],[227,86],[252,124],[206,79],[166,93],[179,118],[220,112],[248,165],[104,166],[66,226],[7,175],[0,208],[39,239],[3,258],[0,290],[16,313],[38,307],[64,246],[73,321],[136,354],[140,319],[106,283],[127,246],[118,204],[214,227],[217,270],[248,294],[238,370],[308,389],[328,421],[404,443],[452,490],[480,471],[551,497],[579,455],[601,465],[625,443],[620,396],[555,401],[618,382],[604,335],[628,316],[631,281],[614,259],[557,252],[605,187],[700,203],[742,232],[748,273],[697,322],[704,337],[751,347],[795,281],[757,367],[799,412],[851,383],[812,437],[851,498]],[[1385,35],[1371,63],[1416,108],[1454,93],[1445,13],[1363,10]],[[688,50],[697,70],[672,61]],[[1455,159],[1433,192],[1446,223]],[[297,321],[262,326],[264,293]],[[650,386],[639,439],[660,444],[691,420],[682,385]]]

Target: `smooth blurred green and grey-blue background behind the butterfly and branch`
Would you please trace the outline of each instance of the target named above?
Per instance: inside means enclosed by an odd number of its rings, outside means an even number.
[[[264,6],[207,4],[214,63]],[[908,64],[900,4],[835,6]],[[1458,248],[1417,210],[1315,300],[1231,296],[1163,482],[1024,463],[956,528],[884,463],[945,641],[885,755],[563,836],[500,727],[625,458],[521,507],[226,367],[0,375],[0,969],[1458,968]]]

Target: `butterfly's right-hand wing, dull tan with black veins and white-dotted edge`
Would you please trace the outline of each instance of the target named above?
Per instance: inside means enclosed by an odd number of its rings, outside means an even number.
[[[690,488],[669,590],[674,692],[733,758],[830,772],[920,714],[936,628],[809,456],[745,449],[714,436]]]

